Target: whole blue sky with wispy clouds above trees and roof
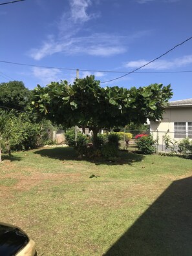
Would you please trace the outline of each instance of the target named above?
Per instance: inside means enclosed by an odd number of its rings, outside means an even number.
[[[0,0],[5,3],[8,0]],[[0,5],[0,61],[61,67],[43,69],[0,62],[0,82],[29,89],[94,74],[112,80],[192,36],[191,0],[25,0]],[[139,72],[101,86],[130,88],[171,83],[173,100],[192,98],[192,39]]]

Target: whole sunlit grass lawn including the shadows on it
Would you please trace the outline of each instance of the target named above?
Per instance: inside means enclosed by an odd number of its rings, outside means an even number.
[[[122,154],[119,163],[70,147],[4,156],[1,221],[27,231],[38,256],[191,256],[191,160]]]

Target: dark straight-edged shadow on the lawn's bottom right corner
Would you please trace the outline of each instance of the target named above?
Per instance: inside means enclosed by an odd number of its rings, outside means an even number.
[[[191,256],[192,177],[173,182],[104,255]]]

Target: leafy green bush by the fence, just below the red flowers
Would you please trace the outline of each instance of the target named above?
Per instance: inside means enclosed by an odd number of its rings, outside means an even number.
[[[136,145],[138,147],[138,150],[144,154],[144,155],[151,155],[155,153],[156,149],[154,147],[155,140],[153,140],[153,136],[143,136],[141,138],[138,138],[136,141]]]

